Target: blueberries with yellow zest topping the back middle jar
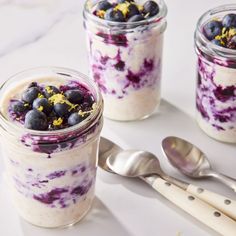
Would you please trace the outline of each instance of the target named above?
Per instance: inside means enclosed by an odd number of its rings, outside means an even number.
[[[137,22],[157,15],[159,10],[155,1],[147,1],[140,6],[134,0],[118,0],[113,4],[102,0],[96,5],[94,14],[108,21]]]

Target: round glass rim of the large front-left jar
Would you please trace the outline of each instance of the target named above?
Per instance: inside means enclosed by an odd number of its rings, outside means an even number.
[[[68,128],[64,128],[64,129],[58,129],[58,130],[46,130],[46,131],[41,131],[41,130],[32,130],[32,129],[27,129],[25,127],[22,126],[18,126],[16,125],[14,122],[10,121],[9,119],[7,119],[1,112],[0,110],[0,122],[3,122],[4,125],[6,125],[6,127],[11,127],[14,130],[17,130],[19,132],[25,132],[28,133],[30,135],[35,135],[35,136],[54,136],[54,135],[65,135],[67,133],[73,132],[73,131],[79,131],[79,130],[84,130],[87,128],[87,124],[91,124],[94,121],[97,121],[98,118],[102,115],[103,112],[103,98],[102,95],[99,91],[99,88],[97,87],[97,85],[95,84],[95,82],[90,79],[88,76],[84,75],[83,73],[76,71],[74,69],[69,69],[69,68],[65,68],[65,67],[56,67],[56,66],[42,66],[42,67],[35,67],[35,68],[30,68],[30,69],[26,69],[23,71],[20,71],[14,75],[12,75],[11,77],[9,77],[5,82],[3,82],[0,86],[0,93],[1,90],[4,88],[4,86],[6,86],[9,82],[13,81],[15,78],[17,78],[18,76],[22,76],[24,75],[24,73],[31,73],[32,74],[36,74],[35,78],[37,78],[37,72],[43,72],[43,71],[47,71],[54,73],[55,75],[60,75],[60,76],[68,76],[76,79],[76,78],[81,78],[83,79],[83,81],[86,81],[86,85],[92,86],[92,88],[95,91],[95,96],[96,96],[96,106],[94,108],[94,111],[88,116],[86,117],[86,119],[84,119],[82,122],[68,127]],[[47,76],[47,74],[45,74],[45,76]],[[77,77],[76,77],[77,76]],[[32,78],[34,77],[34,75],[32,76]],[[82,81],[82,83],[83,83]],[[0,123],[0,126],[2,126],[2,124]]]

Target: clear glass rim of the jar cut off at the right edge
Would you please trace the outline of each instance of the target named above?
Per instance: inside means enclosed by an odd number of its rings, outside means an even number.
[[[219,45],[216,45],[212,43],[209,39],[206,38],[206,36],[203,34],[202,27],[207,22],[207,17],[214,17],[215,14],[219,14],[222,12],[227,11],[235,11],[236,12],[236,4],[224,4],[217,6],[213,9],[208,10],[202,16],[199,18],[197,22],[197,28],[195,31],[195,40],[200,40],[205,47],[211,49],[213,53],[216,53],[217,55],[221,57],[227,57],[229,59],[236,59],[236,50],[230,49],[230,48],[224,48]],[[197,42],[195,42],[197,44]]]

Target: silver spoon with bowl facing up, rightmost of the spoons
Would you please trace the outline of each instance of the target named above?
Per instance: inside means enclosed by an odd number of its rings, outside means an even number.
[[[196,146],[178,137],[167,137],[162,149],[170,163],[191,178],[213,177],[236,192],[236,180],[212,170],[206,155]]]

